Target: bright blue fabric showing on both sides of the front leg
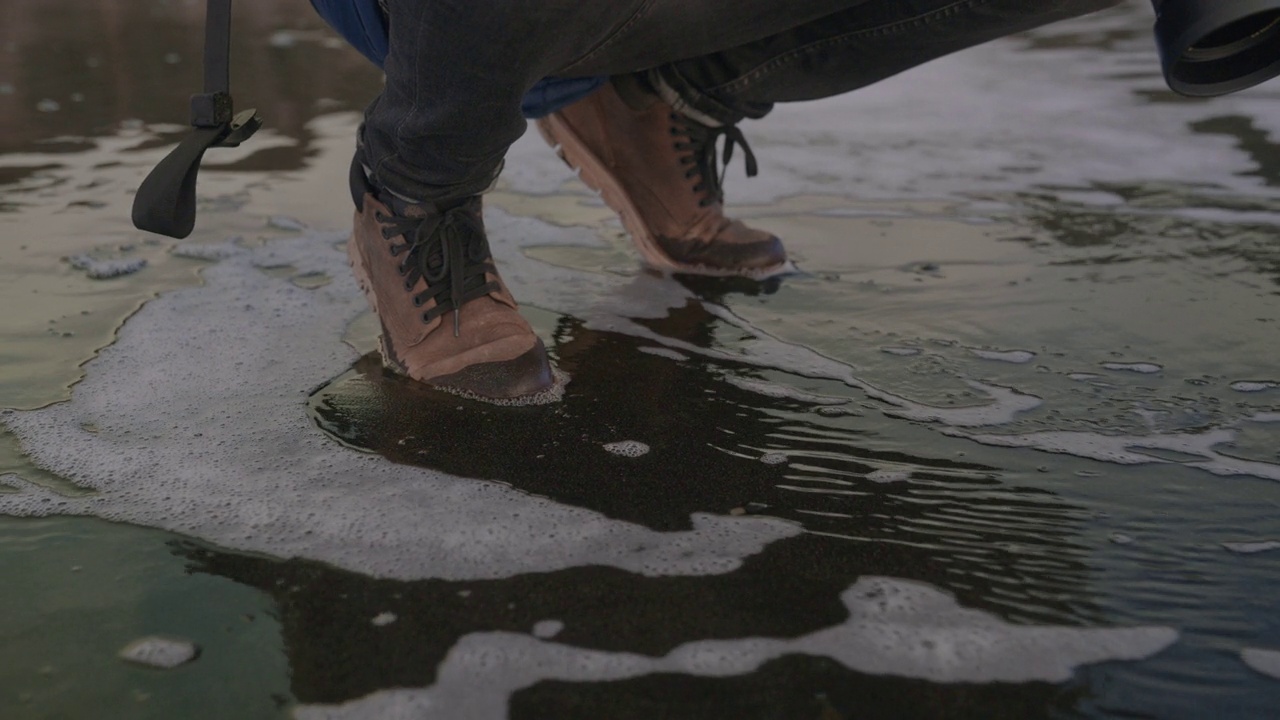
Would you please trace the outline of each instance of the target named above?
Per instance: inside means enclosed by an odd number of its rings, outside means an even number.
[[[311,0],[320,17],[338,31],[360,54],[379,68],[387,61],[388,32],[378,0]],[[545,78],[525,95],[520,111],[526,118],[541,118],[595,92],[605,78]]]

